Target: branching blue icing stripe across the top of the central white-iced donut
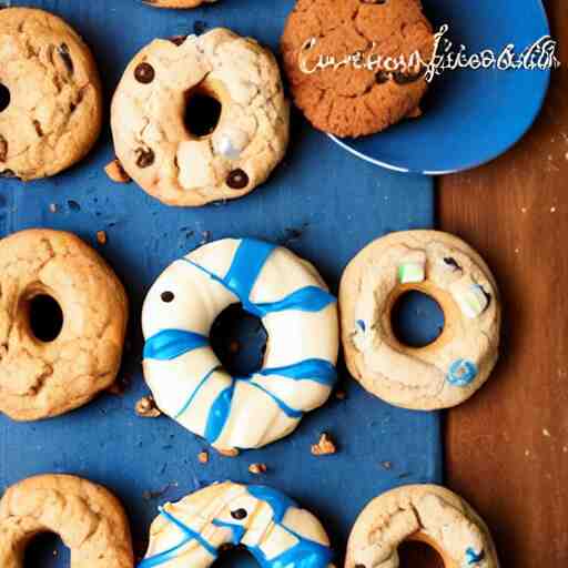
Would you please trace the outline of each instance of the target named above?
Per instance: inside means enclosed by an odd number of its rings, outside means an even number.
[[[255,239],[243,239],[235,252],[231,267],[223,278],[190,258],[182,258],[182,261],[199,268],[212,280],[225,286],[225,288],[240,300],[244,310],[258,317],[264,317],[274,312],[284,312],[286,310],[320,312],[336,301],[335,297],[325,290],[317,286],[305,286],[276,302],[258,304],[251,302],[251,292],[262,268],[275,248],[276,246],[271,243]]]

